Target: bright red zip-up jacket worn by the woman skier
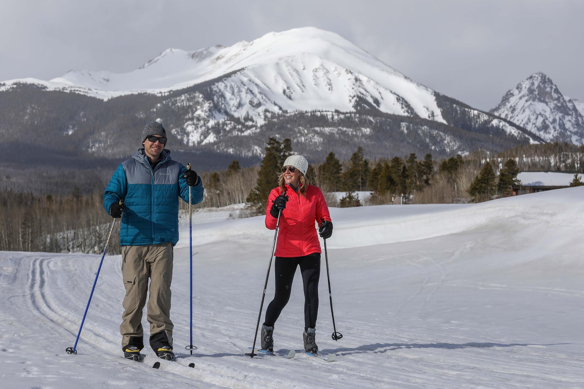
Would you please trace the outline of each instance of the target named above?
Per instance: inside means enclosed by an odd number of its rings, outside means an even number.
[[[321,190],[308,185],[306,197],[287,187],[288,202],[280,217],[276,257],[301,257],[312,253],[321,253],[316,227],[321,218],[331,222],[331,215],[326,206]],[[280,188],[272,189],[267,198],[266,227],[276,229],[278,219],[270,215],[272,202],[281,194]],[[315,222],[317,223],[315,225]]]

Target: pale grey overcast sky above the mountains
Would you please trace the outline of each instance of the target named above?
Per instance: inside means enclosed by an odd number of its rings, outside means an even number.
[[[584,101],[582,0],[2,0],[0,15],[0,80],[128,72],[166,48],[314,26],[483,110],[538,71]]]

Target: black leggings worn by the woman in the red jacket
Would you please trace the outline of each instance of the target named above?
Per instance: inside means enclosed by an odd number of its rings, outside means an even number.
[[[274,274],[276,276],[276,293],[267,306],[267,327],[273,327],[290,299],[292,281],[296,268],[300,265],[304,283],[304,327],[316,328],[318,314],[318,279],[321,276],[321,253],[312,253],[305,257],[276,257]]]

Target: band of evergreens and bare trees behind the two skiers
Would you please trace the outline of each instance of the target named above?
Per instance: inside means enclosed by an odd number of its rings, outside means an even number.
[[[265,150],[260,166],[242,168],[233,160],[224,170],[200,172],[205,197],[194,209],[246,203],[247,211],[240,216],[264,213],[284,160],[301,153],[293,149],[288,138],[269,138]],[[308,181],[321,188],[329,206],[393,204],[395,199],[400,204],[402,199],[405,204],[465,203],[512,195],[520,170],[582,171],[584,148],[548,143],[499,153],[478,150],[436,160],[430,153],[422,158],[409,153],[367,159],[366,150],[358,147],[348,160],[339,160],[329,152],[322,162],[309,162]],[[2,180],[3,185],[17,182],[8,176]],[[55,184],[58,182],[55,175]],[[0,212],[4,216],[0,218],[0,250],[102,253],[112,222],[102,206],[106,183],[92,177],[87,185],[64,194],[73,182],[61,185],[58,193],[46,194],[0,185]],[[572,184],[582,184],[577,174]],[[99,185],[103,188],[96,187]],[[339,201],[333,192],[342,193]],[[357,192],[371,195],[364,201]],[[181,209],[184,214],[187,205],[183,202]],[[108,253],[120,253],[118,242],[116,223]]]

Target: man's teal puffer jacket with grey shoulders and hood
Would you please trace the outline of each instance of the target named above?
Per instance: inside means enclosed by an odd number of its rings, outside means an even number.
[[[144,246],[179,240],[179,197],[189,202],[189,185],[182,174],[186,167],[173,161],[164,149],[161,162],[152,170],[144,149],[117,167],[103,194],[103,208],[124,201],[120,245]],[[191,204],[203,200],[203,184],[191,189]]]

